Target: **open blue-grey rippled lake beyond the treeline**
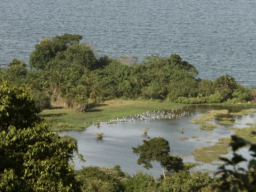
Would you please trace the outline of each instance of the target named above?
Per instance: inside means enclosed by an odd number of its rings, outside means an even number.
[[[1,0],[0,64],[28,63],[34,45],[64,33],[83,35],[97,56],[180,54],[215,79],[230,74],[255,86],[254,0]]]

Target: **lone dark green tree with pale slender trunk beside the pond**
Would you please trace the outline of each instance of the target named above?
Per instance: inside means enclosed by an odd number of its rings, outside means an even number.
[[[181,166],[177,164],[172,164],[175,157],[171,156],[169,142],[162,137],[155,137],[153,139],[143,140],[143,145],[138,145],[137,148],[132,147],[133,153],[139,155],[137,160],[138,165],[144,164],[143,167],[146,169],[153,168],[151,164],[152,161],[157,161],[161,164],[163,168],[163,176],[165,176],[165,169],[168,171],[179,171],[183,169],[182,161],[179,161]],[[176,157],[178,158],[178,157]],[[179,158],[179,160],[182,160]]]

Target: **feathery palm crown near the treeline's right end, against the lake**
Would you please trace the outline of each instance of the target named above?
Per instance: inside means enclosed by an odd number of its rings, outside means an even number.
[[[216,89],[232,93],[233,90],[237,87],[237,82],[235,78],[230,75],[222,75],[218,79],[213,81],[213,85]]]

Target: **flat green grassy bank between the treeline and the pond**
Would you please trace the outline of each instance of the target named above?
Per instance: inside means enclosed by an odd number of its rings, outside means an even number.
[[[52,124],[53,131],[84,130],[97,120],[109,121],[112,118],[127,117],[146,111],[172,110],[184,106],[185,104],[182,103],[116,99],[104,101],[104,103],[91,104],[90,112],[76,113],[71,108],[52,103],[52,107],[44,110],[40,113],[40,116]]]

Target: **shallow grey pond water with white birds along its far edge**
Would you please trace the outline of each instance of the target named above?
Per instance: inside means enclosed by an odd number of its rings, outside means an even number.
[[[141,169],[158,177],[162,173],[162,168],[158,163],[153,163],[153,168],[146,170],[142,165],[137,165],[138,157],[132,153],[131,147],[136,147],[143,143],[143,139],[147,137],[163,137],[170,143],[171,154],[179,155],[184,158],[184,162],[195,162],[193,156],[190,155],[193,149],[200,146],[214,145],[214,143],[205,143],[205,141],[218,141],[218,138],[229,137],[234,131],[227,129],[230,126],[221,126],[214,130],[204,130],[200,132],[199,125],[190,124],[189,121],[195,116],[205,113],[208,110],[229,109],[240,110],[238,108],[228,108],[225,106],[199,106],[178,109],[175,115],[189,112],[184,117],[174,117],[171,119],[146,120],[146,121],[131,121],[118,122],[118,124],[106,125],[101,123],[100,130],[95,126],[88,127],[85,131],[70,131],[64,132],[62,135],[68,134],[78,141],[79,152],[84,156],[86,163],[79,163],[75,160],[75,169],[78,170],[81,166],[115,166],[120,165],[122,171],[129,174],[135,174],[137,170]],[[247,127],[246,122],[253,122],[253,115],[243,117],[236,117],[236,123],[232,127]],[[218,121],[213,120],[218,124]],[[141,130],[143,127],[148,127],[149,132],[145,136]],[[181,132],[181,127],[184,127],[184,132]],[[212,132],[211,135],[207,134]],[[96,137],[97,132],[104,132],[102,140]],[[191,136],[199,136],[197,139],[192,139]],[[180,140],[181,137],[189,137],[188,140]],[[242,152],[246,153],[246,151]],[[202,168],[209,168],[216,170],[218,166],[205,164],[195,167],[193,170],[202,170]]]

